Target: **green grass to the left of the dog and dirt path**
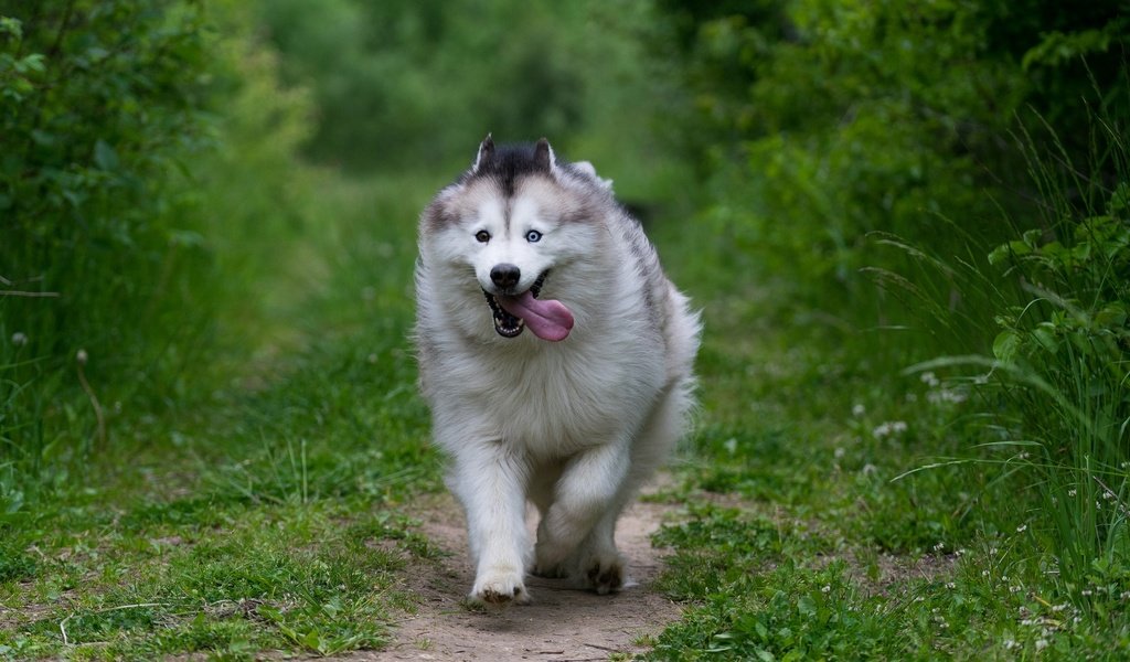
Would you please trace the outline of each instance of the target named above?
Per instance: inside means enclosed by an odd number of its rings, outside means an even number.
[[[258,271],[261,287],[298,284],[290,297],[236,300],[221,320],[233,338],[275,330],[231,342],[175,407],[111,408],[110,447],[11,508],[0,657],[250,659],[388,642],[414,604],[403,573],[436,554],[405,504],[437,489],[440,469],[406,334],[407,207],[423,201],[400,192],[341,182],[311,200],[298,210],[310,225]],[[390,216],[379,232],[360,225],[374,208]],[[312,272],[325,279],[302,280]]]

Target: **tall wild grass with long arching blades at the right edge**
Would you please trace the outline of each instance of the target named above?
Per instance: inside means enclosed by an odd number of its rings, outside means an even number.
[[[1015,516],[1038,567],[1092,603],[1130,590],[1130,150],[1124,127],[1096,117],[1090,160],[1072,163],[1045,129],[1020,136],[1038,216],[1010,219],[1016,238],[947,258],[880,237],[920,269],[879,280],[964,345],[909,372],[972,390],[985,421],[972,461],[1023,478]],[[953,310],[938,303],[955,296]]]

